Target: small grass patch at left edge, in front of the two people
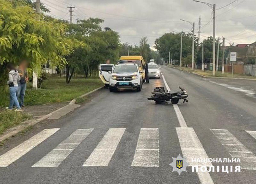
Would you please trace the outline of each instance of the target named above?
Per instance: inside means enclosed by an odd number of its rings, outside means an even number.
[[[3,111],[0,113],[0,135],[7,129],[12,128],[22,121],[29,120],[31,115],[15,111]]]

